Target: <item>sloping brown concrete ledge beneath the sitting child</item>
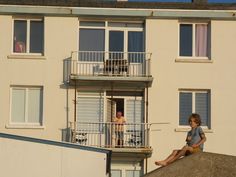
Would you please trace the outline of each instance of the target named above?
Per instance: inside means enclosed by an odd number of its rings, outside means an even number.
[[[235,177],[236,156],[200,152],[184,157],[144,177]]]

